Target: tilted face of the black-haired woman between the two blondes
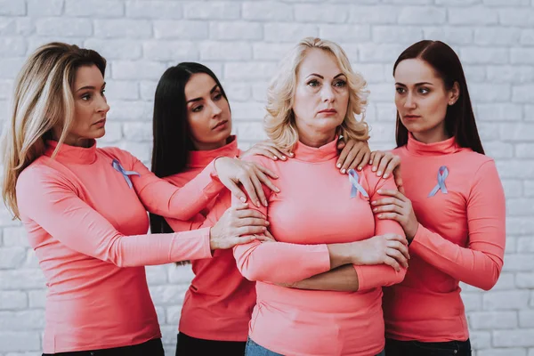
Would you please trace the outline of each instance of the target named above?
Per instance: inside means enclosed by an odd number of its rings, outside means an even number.
[[[231,134],[231,112],[221,87],[206,73],[196,73],[185,85],[187,120],[196,150],[223,147]]]

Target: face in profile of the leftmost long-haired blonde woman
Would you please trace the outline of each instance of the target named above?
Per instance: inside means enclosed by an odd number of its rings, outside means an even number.
[[[89,145],[90,140],[106,134],[106,115],[109,105],[104,95],[106,83],[101,71],[95,66],[77,69],[71,87],[74,96],[74,121],[65,143],[71,146]],[[56,139],[61,136],[62,125],[53,128]]]

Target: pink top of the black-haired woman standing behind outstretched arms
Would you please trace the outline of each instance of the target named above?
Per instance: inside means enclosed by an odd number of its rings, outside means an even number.
[[[238,142],[235,137],[231,140],[217,150],[191,151],[187,170],[166,180],[182,187],[214,158],[239,156]],[[196,219],[166,221],[174,231],[198,229],[201,224],[213,226],[230,206],[231,192],[223,190]],[[255,305],[255,283],[238,271],[231,249],[217,250],[213,258],[193,260],[191,266],[195,278],[185,293],[180,332],[205,340],[247,341],[248,321]]]

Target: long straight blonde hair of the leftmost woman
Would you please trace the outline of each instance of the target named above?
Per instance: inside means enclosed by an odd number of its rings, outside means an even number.
[[[106,60],[99,53],[53,42],[37,48],[20,69],[1,148],[2,198],[15,218],[20,218],[15,191],[20,172],[44,154],[54,126],[62,125],[56,152],[65,141],[74,120],[71,86],[77,69],[90,65],[97,66],[104,75]]]

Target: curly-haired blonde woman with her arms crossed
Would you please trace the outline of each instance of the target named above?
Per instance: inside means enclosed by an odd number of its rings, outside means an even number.
[[[409,255],[401,225],[376,219],[370,200],[395,183],[370,166],[347,176],[332,165],[338,134],[368,138],[356,119],[367,94],[343,49],[319,38],[297,44],[271,82],[265,131],[295,158],[249,158],[279,175],[280,191],[258,209],[279,242],[234,247],[239,271],[257,281],[247,356],[384,354],[381,287],[401,282]],[[284,287],[330,270],[355,277],[352,291]]]

